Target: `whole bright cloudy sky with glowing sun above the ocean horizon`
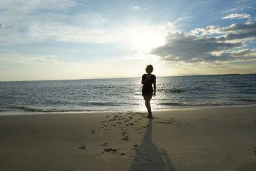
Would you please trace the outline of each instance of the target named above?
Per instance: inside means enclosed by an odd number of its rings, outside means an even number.
[[[0,0],[0,81],[256,73],[255,0]]]

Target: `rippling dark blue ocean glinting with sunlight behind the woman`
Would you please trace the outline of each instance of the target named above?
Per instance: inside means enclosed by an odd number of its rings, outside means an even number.
[[[141,78],[0,82],[0,115],[145,110]],[[157,77],[153,110],[256,105],[256,74]]]

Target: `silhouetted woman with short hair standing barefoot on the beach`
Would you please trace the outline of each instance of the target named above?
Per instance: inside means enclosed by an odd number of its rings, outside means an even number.
[[[152,75],[153,72],[153,66],[148,65],[147,68],[145,68],[145,71],[147,74],[143,74],[141,83],[143,84],[142,88],[142,95],[145,100],[145,107],[148,109],[148,117],[147,118],[153,118],[151,106],[150,106],[150,100],[152,96],[155,96],[155,90],[156,90],[156,77],[155,75]],[[154,83],[154,89],[152,88],[152,84]]]

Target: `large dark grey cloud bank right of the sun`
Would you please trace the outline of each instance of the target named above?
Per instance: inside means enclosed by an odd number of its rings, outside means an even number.
[[[229,27],[208,26],[190,33],[168,33],[165,45],[151,54],[160,60],[185,63],[216,63],[256,60],[255,49],[244,48],[247,40],[256,39],[256,24],[232,24]],[[232,52],[230,52],[232,51]]]

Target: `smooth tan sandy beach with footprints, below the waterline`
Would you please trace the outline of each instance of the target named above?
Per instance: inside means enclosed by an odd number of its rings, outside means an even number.
[[[0,116],[0,170],[256,170],[255,111]]]

